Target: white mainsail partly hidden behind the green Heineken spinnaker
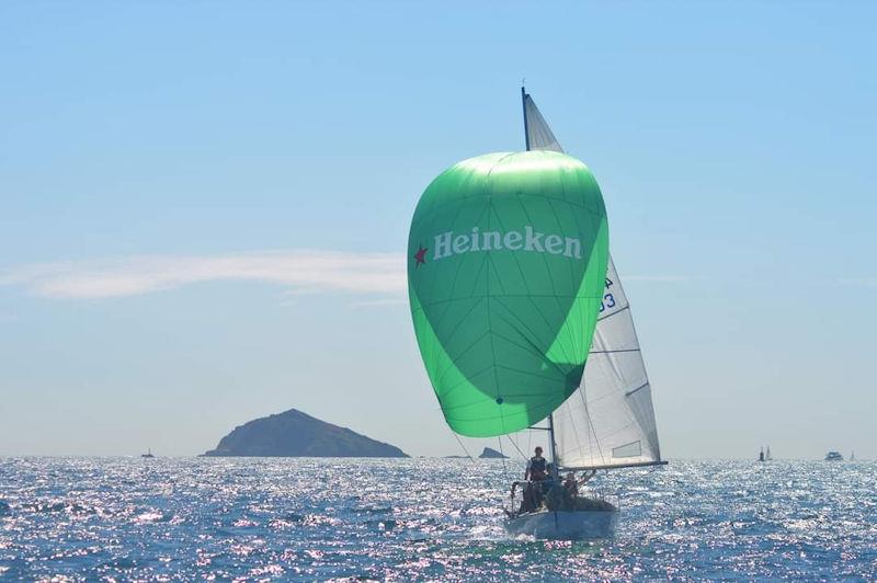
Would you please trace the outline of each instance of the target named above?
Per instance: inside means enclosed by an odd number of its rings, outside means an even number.
[[[533,99],[525,92],[523,99],[527,149],[563,151]],[[581,385],[555,410],[553,421],[557,458],[563,468],[661,461],[651,386],[612,256]]]

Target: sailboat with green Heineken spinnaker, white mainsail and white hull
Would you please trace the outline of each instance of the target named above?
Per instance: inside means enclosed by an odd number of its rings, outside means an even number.
[[[548,479],[512,534],[611,535],[618,507],[553,496],[560,472],[663,465],[651,386],[608,253],[602,193],[522,88],[526,151],[458,162],[421,196],[409,232],[414,332],[451,428],[544,430]],[[539,425],[545,421],[547,425]]]

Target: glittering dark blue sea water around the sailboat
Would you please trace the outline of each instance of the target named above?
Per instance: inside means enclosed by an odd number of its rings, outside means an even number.
[[[503,529],[520,462],[3,458],[0,580],[877,579],[877,464],[599,475],[612,538]]]

